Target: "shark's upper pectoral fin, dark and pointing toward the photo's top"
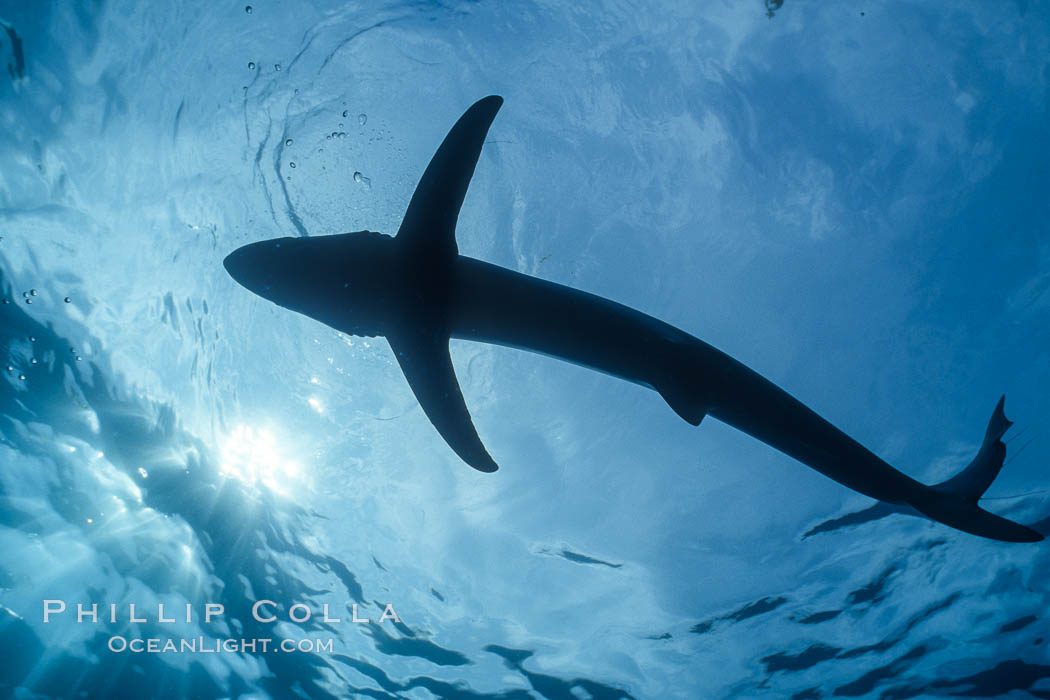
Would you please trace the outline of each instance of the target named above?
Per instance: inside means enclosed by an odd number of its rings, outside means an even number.
[[[502,104],[503,98],[495,94],[479,100],[448,131],[408,203],[397,232],[401,245],[446,259],[459,254],[456,219],[485,134]]]

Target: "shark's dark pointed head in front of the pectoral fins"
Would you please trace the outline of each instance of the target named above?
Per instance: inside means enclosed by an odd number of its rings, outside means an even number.
[[[392,242],[372,231],[272,238],[238,248],[223,267],[237,283],[279,306],[344,333],[382,335]]]

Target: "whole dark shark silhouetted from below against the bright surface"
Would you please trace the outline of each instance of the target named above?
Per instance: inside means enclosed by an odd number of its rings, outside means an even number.
[[[924,485],[892,468],[790,394],[724,353],[652,316],[593,294],[459,254],[456,221],[488,128],[490,96],[453,126],[394,237],[371,231],[250,243],[224,264],[255,294],[338,331],[384,336],[426,417],[480,471],[496,471],[448,354],[449,338],[542,353],[659,393],[678,416],[742,430],[873,499],[1004,542],[1038,532],[978,501],[1003,466],[1011,423],[1003,399],[976,457]]]

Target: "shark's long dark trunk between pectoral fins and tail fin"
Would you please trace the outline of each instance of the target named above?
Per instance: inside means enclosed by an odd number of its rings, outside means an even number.
[[[920,484],[743,363],[652,316],[460,257],[454,338],[555,357],[658,391],[693,424],[710,415],[861,493],[900,503]]]

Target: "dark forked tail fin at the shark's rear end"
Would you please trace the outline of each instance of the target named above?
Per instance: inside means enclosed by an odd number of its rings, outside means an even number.
[[[1001,542],[1040,542],[1043,535],[1008,521],[978,505],[981,496],[1003,468],[1006,445],[1003,436],[1013,425],[1003,412],[1006,397],[999,400],[988,421],[984,442],[976,457],[951,479],[929,486],[908,503],[922,514],[958,530]]]

